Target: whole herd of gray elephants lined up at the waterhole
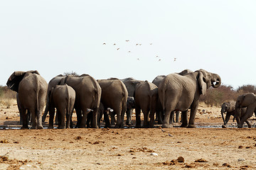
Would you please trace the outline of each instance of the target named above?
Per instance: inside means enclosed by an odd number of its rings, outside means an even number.
[[[181,127],[196,128],[199,97],[206,95],[210,86],[218,88],[221,79],[218,74],[204,69],[196,72],[184,69],[180,73],[157,76],[152,82],[133,78],[96,80],[88,74],[60,74],[47,83],[35,70],[14,72],[6,84],[17,92],[22,129],[28,129],[30,119],[32,129],[43,129],[42,122],[48,113],[48,128],[53,128],[55,110],[58,128],[73,128],[74,109],[77,114],[75,128],[98,128],[103,114],[105,128],[113,124],[114,128],[122,128],[124,113],[127,113],[126,124],[131,125],[133,108],[136,113],[135,128],[153,128],[155,120],[163,128],[171,128],[174,112],[179,111]],[[227,113],[225,118],[223,116],[224,125],[228,123],[230,115],[234,115],[238,128],[242,128],[245,122],[251,127],[247,119],[255,112],[255,108],[255,94],[244,94],[237,101],[223,103],[221,114]],[[189,120],[188,109],[191,109]],[[143,124],[141,111],[144,115]]]

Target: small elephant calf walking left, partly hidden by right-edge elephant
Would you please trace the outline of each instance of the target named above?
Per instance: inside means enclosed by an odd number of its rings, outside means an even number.
[[[241,116],[243,116],[246,112],[246,108],[240,108],[241,111]],[[223,105],[221,106],[221,116],[223,118],[223,123],[224,125],[228,124],[228,120],[230,119],[230,115],[233,115],[235,118],[235,101],[226,101],[223,103]],[[226,116],[224,118],[224,113],[226,113]],[[246,120],[245,123],[247,123],[248,128],[251,128],[252,125]]]

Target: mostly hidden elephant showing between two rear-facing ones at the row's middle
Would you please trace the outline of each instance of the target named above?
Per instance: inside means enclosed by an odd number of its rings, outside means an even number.
[[[132,77],[129,77],[129,78],[126,78],[126,79],[120,79],[124,85],[126,86],[127,88],[127,91],[128,91],[128,96],[130,97],[133,97],[134,96],[134,91],[135,91],[135,86],[137,84],[139,84],[140,82],[142,82],[141,80],[137,80],[137,79],[134,79]],[[126,121],[126,124],[127,125],[132,125],[132,109],[127,109],[126,111],[127,113],[127,121]]]

